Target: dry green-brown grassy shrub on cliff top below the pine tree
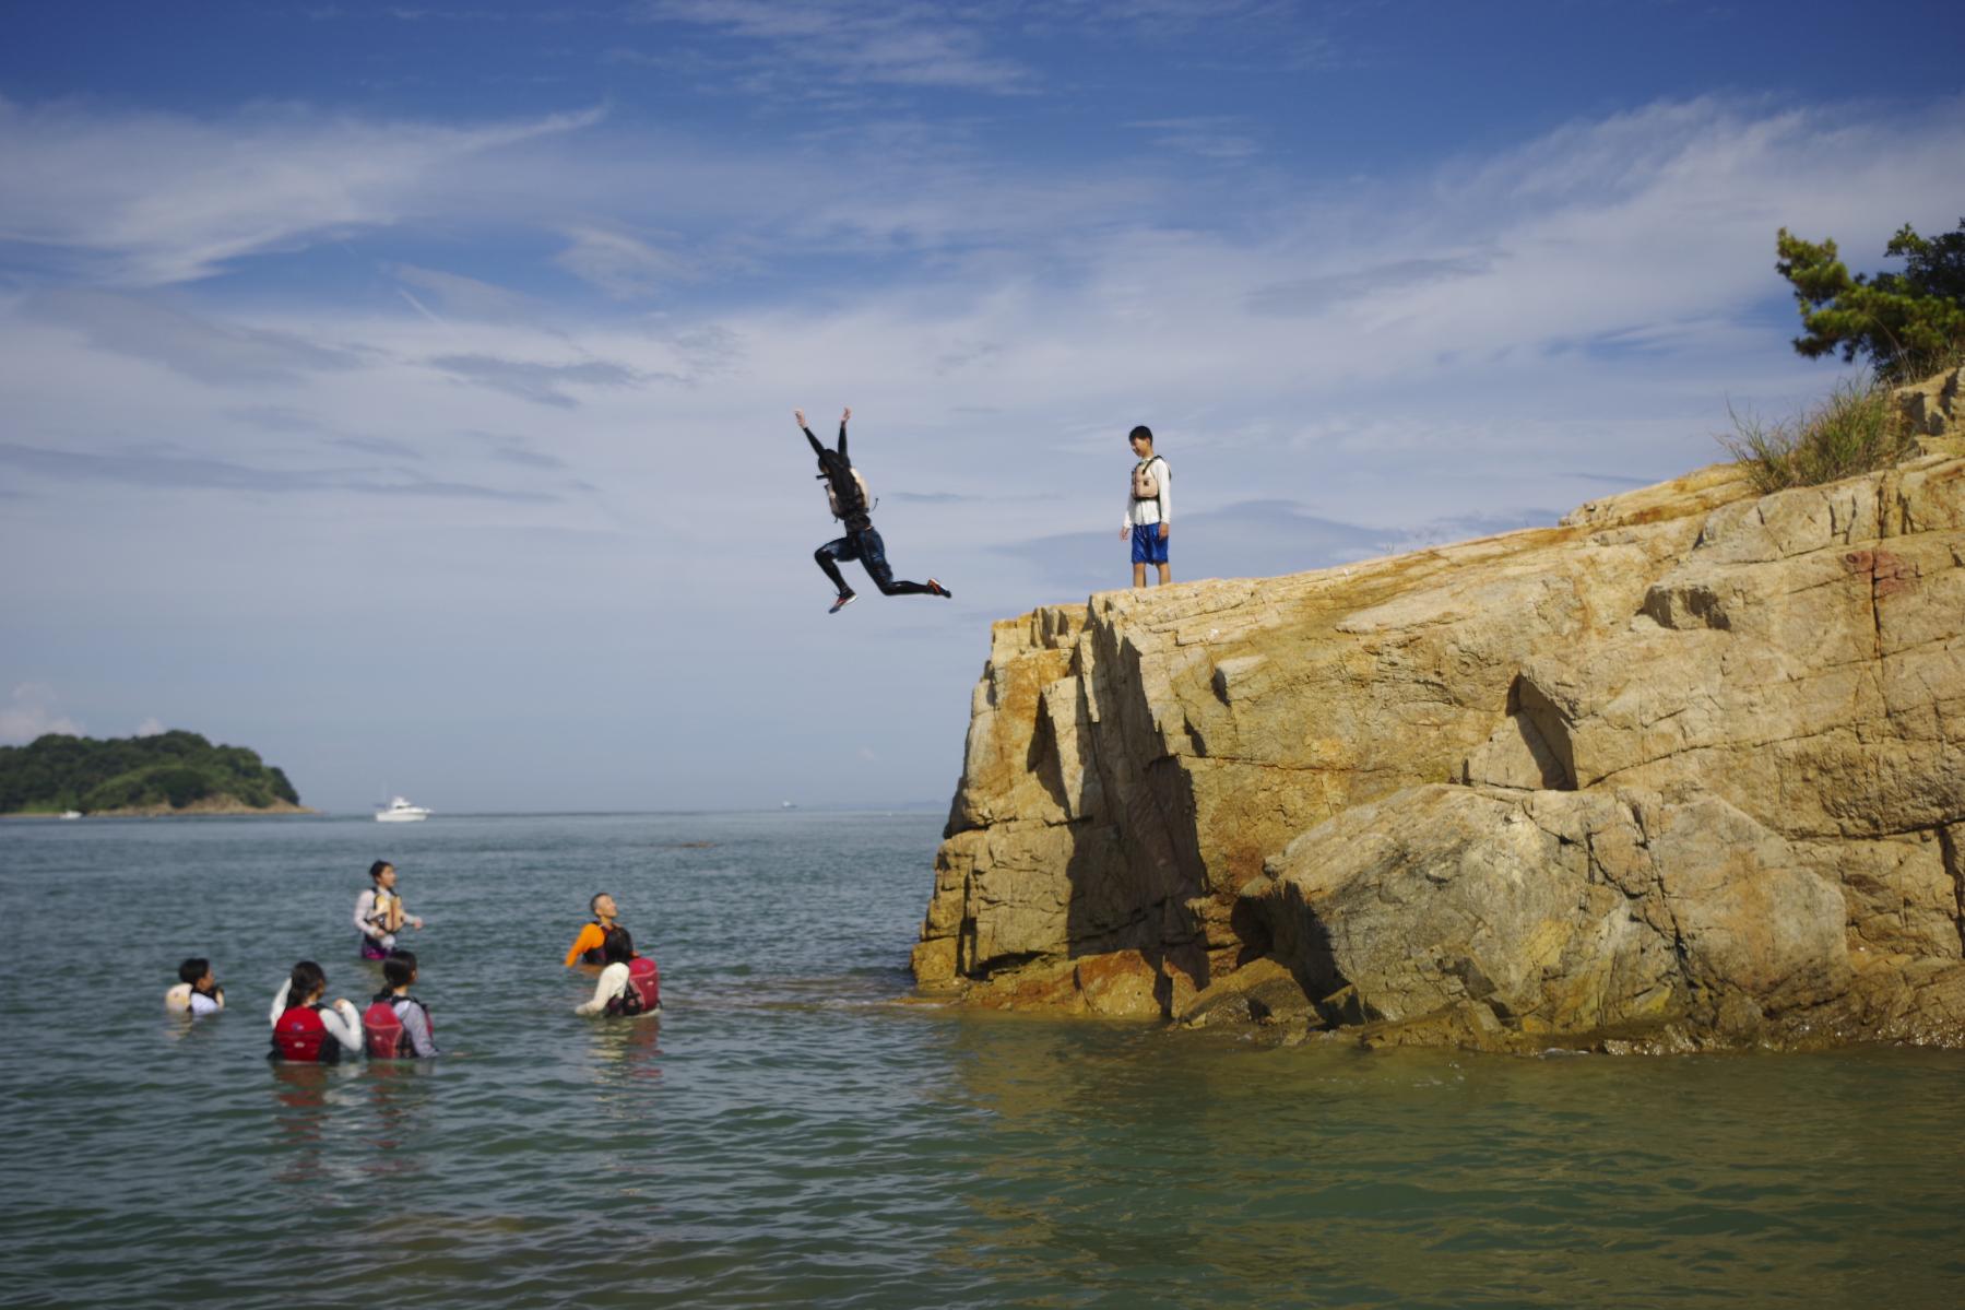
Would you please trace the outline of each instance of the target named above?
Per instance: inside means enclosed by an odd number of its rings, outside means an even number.
[[[1886,468],[1910,454],[1910,429],[1882,382],[1843,382],[1798,419],[1765,423],[1727,405],[1733,435],[1719,443],[1747,466],[1763,496]]]

